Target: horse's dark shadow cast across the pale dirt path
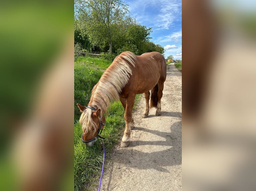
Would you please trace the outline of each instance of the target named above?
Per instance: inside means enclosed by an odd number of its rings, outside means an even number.
[[[148,132],[160,137],[165,138],[165,141],[150,141],[150,136],[147,141],[132,141],[127,148],[119,149],[116,155],[125,154],[119,163],[125,164],[132,168],[138,169],[156,169],[161,172],[169,172],[167,166],[180,165],[181,164],[181,121],[175,122],[171,125],[171,132],[166,133],[158,130],[150,130],[143,127],[134,127],[134,130],[139,130],[141,133]],[[174,133],[175,132],[175,133]],[[150,152],[141,152],[136,150],[137,146],[149,145],[152,150]],[[159,146],[170,146],[167,149],[158,151]],[[131,149],[131,147],[133,147]],[[130,149],[129,149],[130,148]],[[157,150],[156,150],[157,149]]]

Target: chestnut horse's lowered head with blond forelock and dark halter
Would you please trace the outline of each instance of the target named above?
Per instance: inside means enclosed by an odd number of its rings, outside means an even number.
[[[87,145],[92,146],[102,131],[105,123],[101,118],[101,109],[93,107],[85,107],[77,103],[80,111],[82,112],[79,122],[82,125],[83,134],[82,141]]]

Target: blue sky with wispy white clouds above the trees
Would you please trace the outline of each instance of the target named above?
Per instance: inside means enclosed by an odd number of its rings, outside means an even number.
[[[150,41],[164,47],[165,58],[182,59],[181,0],[125,0],[132,17],[152,27]]]

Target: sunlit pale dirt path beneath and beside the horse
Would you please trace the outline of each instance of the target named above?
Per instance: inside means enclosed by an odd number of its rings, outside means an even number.
[[[142,118],[144,96],[133,112],[135,127],[127,148],[120,143],[106,164],[102,191],[181,190],[181,73],[167,66],[162,115]]]

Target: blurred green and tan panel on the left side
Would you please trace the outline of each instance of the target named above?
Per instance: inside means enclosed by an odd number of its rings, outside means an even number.
[[[74,187],[74,3],[0,5],[0,190]]]

